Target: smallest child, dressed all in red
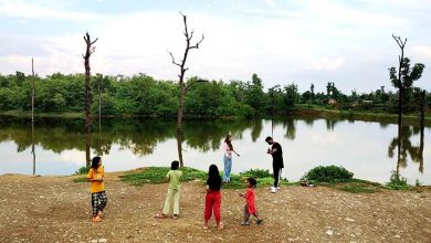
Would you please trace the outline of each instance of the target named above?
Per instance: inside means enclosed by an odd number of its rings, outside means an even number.
[[[256,218],[256,223],[261,224],[263,220],[259,218],[257,214],[257,209],[256,209],[256,201],[255,201],[255,194],[254,194],[254,189],[256,188],[257,181],[250,177],[246,179],[246,192],[245,193],[240,193],[240,197],[245,198],[246,203],[244,205],[244,221],[241,223],[241,225],[248,226],[250,225],[250,214]]]

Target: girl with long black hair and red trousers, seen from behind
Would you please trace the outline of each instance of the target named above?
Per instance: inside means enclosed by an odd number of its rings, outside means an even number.
[[[204,210],[204,222],[203,230],[208,230],[208,221],[210,221],[212,211],[214,211],[214,218],[218,230],[223,230],[223,223],[220,216],[221,207],[221,177],[219,168],[216,165],[211,165],[208,171],[207,180],[207,196],[206,196],[206,210]]]

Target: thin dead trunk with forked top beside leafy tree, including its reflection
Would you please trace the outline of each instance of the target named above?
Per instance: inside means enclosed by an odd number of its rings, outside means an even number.
[[[401,68],[402,68],[402,62],[403,62],[403,59],[404,59],[404,46],[406,46],[406,42],[407,42],[407,39],[404,39],[404,41],[401,40],[400,36],[395,36],[392,34],[392,38],[393,40],[397,42],[398,46],[400,47],[401,50],[401,54],[398,56],[398,61],[399,61],[399,66],[398,66],[398,163],[399,163],[399,160],[400,160],[400,156],[401,156],[401,138],[402,138],[402,98],[403,98],[403,93],[404,93],[404,87],[402,85],[402,81],[401,81]],[[397,173],[399,172],[399,166],[397,165]]]

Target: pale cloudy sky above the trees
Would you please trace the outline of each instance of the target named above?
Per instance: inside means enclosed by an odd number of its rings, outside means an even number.
[[[186,75],[250,81],[265,88],[295,83],[350,94],[385,86],[407,38],[406,55],[425,70],[416,86],[431,89],[429,0],[0,0],[0,73],[83,73],[83,35],[98,38],[92,73],[178,80],[168,51],[181,59],[187,14],[198,50]]]

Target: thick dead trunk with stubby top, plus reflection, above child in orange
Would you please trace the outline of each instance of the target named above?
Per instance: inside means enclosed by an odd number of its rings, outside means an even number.
[[[84,35],[84,41],[86,44],[86,51],[85,55],[83,54],[84,59],[84,66],[85,66],[85,159],[86,159],[86,165],[90,166],[90,142],[91,142],[91,114],[90,114],[90,106],[92,103],[92,89],[91,89],[91,68],[90,68],[90,56],[92,53],[95,51],[95,46],[92,46],[94,43],[96,43],[98,39],[94,40],[92,42],[88,32],[85,33]]]

